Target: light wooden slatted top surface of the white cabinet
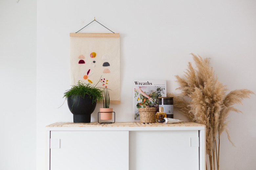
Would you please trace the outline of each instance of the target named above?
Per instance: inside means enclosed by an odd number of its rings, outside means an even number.
[[[46,127],[193,127],[204,126],[194,122],[182,122],[175,124],[161,123],[140,123],[140,122],[116,122],[112,124],[100,124],[98,122],[91,123],[73,123],[73,122],[56,122]]]

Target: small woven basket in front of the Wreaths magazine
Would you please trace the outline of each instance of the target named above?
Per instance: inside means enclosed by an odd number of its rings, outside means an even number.
[[[140,123],[155,123],[156,122],[156,108],[139,108],[139,122]]]

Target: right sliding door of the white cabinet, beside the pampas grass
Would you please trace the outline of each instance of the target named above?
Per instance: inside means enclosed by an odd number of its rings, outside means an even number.
[[[130,170],[199,170],[198,130],[130,131]]]

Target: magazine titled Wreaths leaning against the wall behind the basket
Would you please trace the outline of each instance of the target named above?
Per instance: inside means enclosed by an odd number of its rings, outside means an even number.
[[[139,122],[139,108],[155,107],[158,97],[166,97],[166,80],[134,80],[133,112],[134,121]]]

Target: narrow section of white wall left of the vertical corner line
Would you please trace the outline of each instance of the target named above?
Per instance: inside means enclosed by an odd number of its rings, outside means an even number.
[[[36,168],[36,1],[0,1],[0,169]]]

